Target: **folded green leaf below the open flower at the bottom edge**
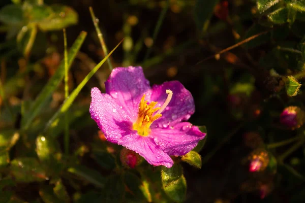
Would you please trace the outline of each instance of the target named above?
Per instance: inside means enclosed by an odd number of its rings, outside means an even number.
[[[176,202],[183,202],[187,192],[187,182],[182,174],[182,166],[174,164],[171,168],[162,166],[162,184],[165,193]]]

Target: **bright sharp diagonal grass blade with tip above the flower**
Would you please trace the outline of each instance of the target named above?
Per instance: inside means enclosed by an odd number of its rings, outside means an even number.
[[[94,67],[94,69],[92,71],[90,71],[90,73],[88,73],[88,75],[81,81],[81,83],[76,87],[76,89],[73,90],[73,92],[70,94],[70,96],[64,101],[64,104],[62,105],[62,107],[60,107],[58,109],[58,111],[54,114],[54,116],[49,120],[49,122],[47,123],[47,125],[45,127],[45,132],[47,132],[51,126],[57,125],[59,116],[61,116],[63,113],[65,113],[70,108],[74,99],[76,98],[78,93],[81,91],[81,89],[85,86],[85,84],[89,81],[89,79],[99,70],[99,68],[104,64],[104,62],[109,58],[109,56],[114,52],[114,50],[116,50],[116,48],[123,42],[123,40],[121,40],[114,47],[114,49],[112,49],[110,51],[110,53],[107,56],[105,56],[105,58],[101,62],[99,62],[99,64],[97,64]]]

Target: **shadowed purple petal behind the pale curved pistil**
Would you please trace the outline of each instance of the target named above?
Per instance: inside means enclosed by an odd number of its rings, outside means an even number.
[[[164,104],[167,98],[166,90],[173,91],[172,99],[168,106],[161,113],[162,117],[156,120],[154,127],[166,127],[169,124],[173,125],[180,121],[189,120],[191,115],[195,112],[194,99],[189,90],[187,90],[180,82],[171,81],[165,82],[162,85],[154,85],[150,96],[151,101],[158,101],[158,107]]]

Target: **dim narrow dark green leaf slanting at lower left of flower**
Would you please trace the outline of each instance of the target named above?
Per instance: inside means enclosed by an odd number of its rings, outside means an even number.
[[[86,166],[76,165],[68,168],[68,172],[75,174],[98,187],[103,188],[105,186],[106,179],[99,172]]]

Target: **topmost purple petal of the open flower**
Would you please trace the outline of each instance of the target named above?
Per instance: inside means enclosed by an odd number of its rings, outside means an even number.
[[[105,82],[106,93],[115,98],[116,103],[135,121],[139,103],[146,91],[150,90],[142,67],[116,67]]]

